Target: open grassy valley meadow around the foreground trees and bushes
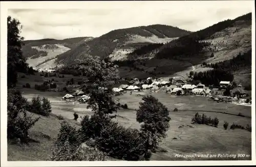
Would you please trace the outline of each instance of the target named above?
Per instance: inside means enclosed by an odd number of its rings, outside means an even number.
[[[32,77],[36,81],[31,79]],[[70,77],[65,75],[65,78],[58,78],[58,80],[70,79]],[[79,127],[80,116],[93,114],[91,109],[87,109],[87,104],[60,101],[61,97],[66,94],[64,92],[39,92],[33,88],[22,88],[22,85],[26,82],[41,84],[43,79],[45,78],[39,75],[20,78],[17,89],[23,92],[28,101],[31,101],[35,95],[47,97],[52,102],[52,115],[48,118],[41,116],[41,119],[29,132],[32,138],[39,141],[39,143],[30,143],[23,146],[8,144],[8,160],[50,160],[51,149],[56,140],[61,121],[56,118],[56,115],[62,115],[72,125]],[[115,96],[114,98],[119,100],[121,104],[126,103],[129,107],[129,109],[120,108],[115,120],[123,126],[139,129],[140,124],[136,122],[135,109],[138,109],[142,96],[148,94],[151,94],[151,92],[133,92],[132,95],[128,92],[121,96]],[[216,101],[209,101],[209,97],[175,96],[161,91],[153,93],[153,96],[158,98],[170,110],[169,116],[172,120],[169,122],[170,128],[167,131],[167,137],[160,143],[159,150],[153,153],[151,160],[228,160],[227,158],[218,158],[218,154],[251,155],[251,132],[229,129],[232,123],[243,126],[251,125],[251,107],[224,102],[217,103]],[[178,108],[178,112],[173,112],[174,108]],[[79,115],[78,121],[73,120],[74,112]],[[211,118],[217,117],[220,121],[218,128],[207,125],[191,125],[191,118],[197,112]],[[239,113],[245,117],[237,116]],[[227,130],[223,128],[224,121],[229,123]],[[184,126],[181,127],[181,125]],[[187,125],[191,126],[188,127]],[[209,154],[217,155],[217,157],[177,158],[175,157],[176,154]],[[232,159],[230,158],[230,160]],[[238,160],[239,158],[236,157],[235,159]]]

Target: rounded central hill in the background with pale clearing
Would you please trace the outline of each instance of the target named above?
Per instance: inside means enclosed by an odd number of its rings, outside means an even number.
[[[58,55],[60,64],[69,64],[75,59],[83,59],[86,55],[101,58],[125,59],[126,54],[148,43],[166,43],[190,32],[168,25],[148,25],[119,29],[85,42],[68,52]]]

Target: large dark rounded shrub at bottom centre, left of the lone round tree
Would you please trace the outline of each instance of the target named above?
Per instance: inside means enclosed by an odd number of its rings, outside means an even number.
[[[141,160],[145,152],[144,143],[139,130],[125,128],[112,121],[103,126],[100,136],[96,137],[99,150],[124,160]]]

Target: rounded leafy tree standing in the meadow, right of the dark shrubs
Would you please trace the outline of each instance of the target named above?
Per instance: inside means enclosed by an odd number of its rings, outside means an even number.
[[[140,102],[140,107],[136,113],[136,120],[139,123],[143,123],[141,131],[146,137],[146,155],[148,149],[155,151],[158,143],[166,136],[170,117],[168,116],[168,109],[155,97],[151,95],[144,96],[142,100],[144,102]]]

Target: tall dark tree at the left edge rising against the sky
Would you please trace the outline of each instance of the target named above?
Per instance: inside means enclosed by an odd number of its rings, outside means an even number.
[[[17,72],[27,72],[28,64],[22,54],[24,38],[20,37],[22,26],[11,16],[7,18],[7,86],[16,86]]]

